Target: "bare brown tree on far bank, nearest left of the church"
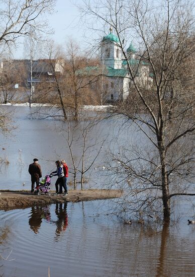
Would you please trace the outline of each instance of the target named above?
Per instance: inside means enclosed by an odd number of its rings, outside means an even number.
[[[87,53],[81,53],[79,46],[70,40],[66,46],[65,72],[65,97],[69,107],[73,109],[74,120],[78,120],[79,109],[83,104],[97,103],[98,97],[94,93],[99,71]],[[90,68],[90,70],[89,70]]]

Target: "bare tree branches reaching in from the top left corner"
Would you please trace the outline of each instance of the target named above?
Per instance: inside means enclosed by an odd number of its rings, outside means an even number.
[[[54,0],[3,0],[0,8],[0,48],[7,49],[16,45],[17,39],[29,34],[30,28],[37,32],[47,30],[47,21],[44,16],[52,12]],[[6,115],[1,111],[1,122]],[[6,129],[6,126],[3,129]]]

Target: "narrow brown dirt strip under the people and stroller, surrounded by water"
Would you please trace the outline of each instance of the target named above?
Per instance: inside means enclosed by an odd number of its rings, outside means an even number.
[[[0,190],[0,210],[23,209],[33,205],[44,205],[57,202],[79,202],[97,199],[110,199],[120,197],[121,190],[107,189],[87,189],[87,190],[69,190],[68,195],[51,195],[37,196],[28,191],[6,191]]]

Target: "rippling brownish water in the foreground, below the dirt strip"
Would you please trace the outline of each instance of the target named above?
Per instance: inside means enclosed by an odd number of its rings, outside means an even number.
[[[148,227],[106,214],[108,201],[0,212],[0,274],[194,276],[195,225]],[[104,210],[100,207],[104,207]],[[12,252],[11,252],[12,251]]]

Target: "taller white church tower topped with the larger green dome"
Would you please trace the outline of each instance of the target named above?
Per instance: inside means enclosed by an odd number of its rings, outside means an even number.
[[[111,27],[109,35],[103,37],[101,42],[101,63],[114,69],[120,69],[122,66],[121,54],[119,38],[113,34]]]

